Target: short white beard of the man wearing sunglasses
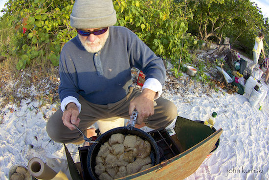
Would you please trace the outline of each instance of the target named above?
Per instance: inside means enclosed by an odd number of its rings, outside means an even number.
[[[96,39],[94,42],[90,42],[88,39],[86,39],[85,41],[81,38],[81,35],[78,35],[79,40],[82,44],[82,46],[85,48],[86,51],[90,52],[90,53],[95,53],[100,51],[103,46],[105,45],[108,37],[109,37],[109,29],[107,30],[107,33],[105,34],[105,36],[102,39]],[[98,46],[94,46],[92,47],[91,45],[95,45],[95,44],[99,44]]]

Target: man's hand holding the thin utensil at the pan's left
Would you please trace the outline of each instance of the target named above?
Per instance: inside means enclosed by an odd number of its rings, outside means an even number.
[[[79,110],[75,103],[68,103],[66,110],[63,113],[62,120],[64,125],[70,130],[74,130],[76,125],[78,127],[80,119],[78,118]],[[73,124],[73,125],[72,125]]]

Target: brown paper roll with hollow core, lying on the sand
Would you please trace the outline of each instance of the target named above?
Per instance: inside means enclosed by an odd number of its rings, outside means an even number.
[[[53,169],[38,157],[33,157],[29,160],[28,171],[32,176],[42,180],[51,180],[57,175]]]

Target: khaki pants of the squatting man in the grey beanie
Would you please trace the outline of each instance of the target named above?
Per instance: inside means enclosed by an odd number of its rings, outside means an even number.
[[[130,88],[129,93],[120,101],[107,105],[94,104],[86,101],[82,96],[79,97],[81,103],[81,112],[79,114],[79,129],[87,135],[87,128],[93,125],[99,119],[107,119],[111,117],[121,117],[130,119],[129,104],[135,97],[141,94],[140,91]],[[158,98],[155,100],[154,115],[150,116],[144,123],[152,129],[165,128],[169,126],[177,117],[177,107],[174,103]],[[46,131],[49,137],[55,142],[81,144],[84,142],[83,136],[78,130],[68,129],[62,121],[63,112],[59,108],[48,120]]]

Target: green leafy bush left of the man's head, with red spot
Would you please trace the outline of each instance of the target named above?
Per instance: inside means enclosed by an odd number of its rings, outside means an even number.
[[[8,51],[3,56],[18,56],[18,70],[24,69],[37,56],[59,65],[61,47],[76,33],[69,26],[71,1],[9,0],[4,18],[15,29]]]

